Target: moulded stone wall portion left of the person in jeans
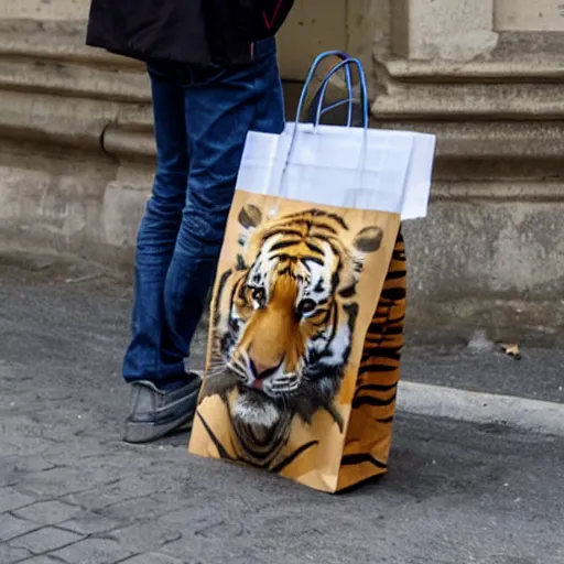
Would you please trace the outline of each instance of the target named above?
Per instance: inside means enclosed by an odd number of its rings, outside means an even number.
[[[3,246],[107,259],[134,242],[154,154],[149,85],[141,65],[84,45],[88,8],[0,2]]]

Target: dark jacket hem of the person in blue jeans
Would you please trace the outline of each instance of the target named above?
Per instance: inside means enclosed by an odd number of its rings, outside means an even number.
[[[87,45],[141,61],[247,64],[294,0],[91,0]]]

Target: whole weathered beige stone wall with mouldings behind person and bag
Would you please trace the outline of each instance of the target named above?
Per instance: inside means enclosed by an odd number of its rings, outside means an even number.
[[[375,126],[438,137],[430,217],[405,228],[413,323],[553,333],[564,321],[558,3],[327,2],[296,0],[280,36],[289,112],[313,56],[341,48],[367,65]],[[150,93],[140,65],[84,46],[87,9],[0,3],[0,241],[119,265],[151,184]]]

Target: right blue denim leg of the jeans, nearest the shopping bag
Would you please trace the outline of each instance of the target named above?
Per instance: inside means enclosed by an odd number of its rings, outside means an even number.
[[[274,41],[260,42],[256,56],[185,94],[188,193],[164,289],[170,338],[184,357],[216,272],[247,133],[284,128]]]

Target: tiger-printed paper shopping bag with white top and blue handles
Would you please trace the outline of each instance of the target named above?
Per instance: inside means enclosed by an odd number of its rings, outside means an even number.
[[[317,64],[315,62],[300,102]],[[330,53],[335,55],[335,53]],[[401,221],[426,214],[435,138],[289,123],[247,139],[189,452],[336,492],[387,471],[405,315]],[[349,96],[349,118],[352,96]],[[321,108],[321,102],[319,102]],[[350,121],[349,121],[350,124]]]

